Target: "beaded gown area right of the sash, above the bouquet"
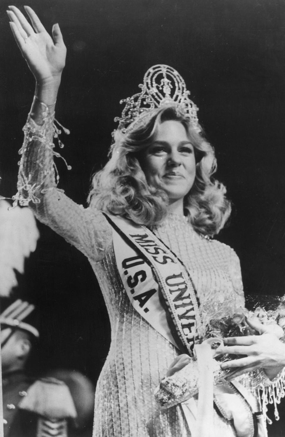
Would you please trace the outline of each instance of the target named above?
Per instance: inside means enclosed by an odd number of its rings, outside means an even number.
[[[184,217],[175,215],[155,232],[188,268],[206,319],[222,317],[244,305],[239,260],[230,247],[205,239]]]

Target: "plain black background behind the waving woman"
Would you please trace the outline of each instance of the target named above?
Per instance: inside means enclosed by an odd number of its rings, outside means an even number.
[[[0,194],[11,196],[34,79],[11,35],[8,4],[2,0],[0,6]],[[59,187],[86,205],[90,177],[106,162],[120,99],[138,92],[151,65],[171,65],[199,107],[216,149],[218,177],[233,201],[230,225],[218,238],[239,255],[247,295],[283,295],[285,1],[31,0],[29,5],[49,30],[59,22],[68,49],[57,118],[71,130],[62,137],[62,154],[72,170],[58,162]],[[96,382],[110,336],[96,280],[81,253],[46,226],[39,229],[38,248],[17,290],[41,310],[42,346],[34,368],[74,367]],[[274,435],[282,435],[281,425]]]

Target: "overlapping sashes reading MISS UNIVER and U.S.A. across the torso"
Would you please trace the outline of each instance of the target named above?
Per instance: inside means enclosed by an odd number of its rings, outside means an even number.
[[[192,347],[203,330],[196,292],[188,271],[150,229],[124,218],[105,216],[113,227],[117,267],[131,304],[177,347],[159,299],[161,290],[175,329],[192,355]]]

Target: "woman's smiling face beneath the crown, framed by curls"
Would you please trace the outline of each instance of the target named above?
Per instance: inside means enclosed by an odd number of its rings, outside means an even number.
[[[149,185],[163,189],[169,204],[183,207],[196,176],[196,161],[185,127],[180,121],[164,121],[154,140],[142,153],[141,167]]]

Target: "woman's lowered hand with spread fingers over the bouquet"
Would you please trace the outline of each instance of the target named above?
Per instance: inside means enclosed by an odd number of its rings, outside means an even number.
[[[229,379],[261,368],[273,379],[285,366],[285,344],[278,338],[278,326],[262,325],[256,320],[247,320],[247,323],[261,335],[225,338],[224,346],[216,352],[247,356],[227,361],[221,368],[233,369]]]

